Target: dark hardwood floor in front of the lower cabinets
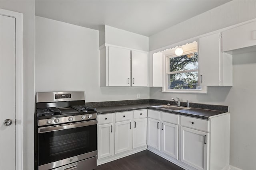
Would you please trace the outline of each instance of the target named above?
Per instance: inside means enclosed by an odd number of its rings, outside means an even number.
[[[144,150],[97,166],[96,170],[184,170],[168,160]]]

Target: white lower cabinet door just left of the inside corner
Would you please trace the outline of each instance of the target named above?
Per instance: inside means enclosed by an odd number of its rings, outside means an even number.
[[[134,119],[133,149],[147,145],[147,118]]]

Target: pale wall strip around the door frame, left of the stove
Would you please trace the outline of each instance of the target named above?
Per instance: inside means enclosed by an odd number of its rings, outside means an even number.
[[[23,14],[23,167],[34,169],[34,0],[1,0],[0,8]]]

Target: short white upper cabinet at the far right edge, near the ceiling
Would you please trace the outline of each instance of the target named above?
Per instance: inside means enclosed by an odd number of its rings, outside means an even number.
[[[222,51],[232,51],[256,45],[256,21],[222,32]]]

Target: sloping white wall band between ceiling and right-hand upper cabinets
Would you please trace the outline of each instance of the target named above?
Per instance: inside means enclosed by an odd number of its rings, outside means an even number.
[[[149,37],[149,51],[256,18],[255,0],[233,0]]]

